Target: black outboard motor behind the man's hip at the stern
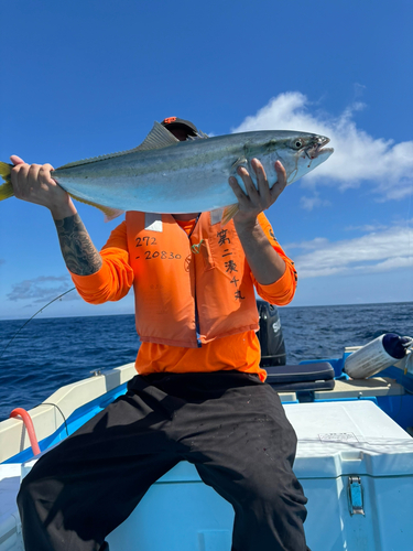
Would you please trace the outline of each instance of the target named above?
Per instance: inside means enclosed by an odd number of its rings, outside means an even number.
[[[261,345],[260,366],[285,366],[286,354],[281,321],[276,306],[258,300],[258,314],[260,316],[260,329],[257,336]]]

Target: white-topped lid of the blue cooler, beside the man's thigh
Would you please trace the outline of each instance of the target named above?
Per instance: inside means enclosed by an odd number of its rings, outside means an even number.
[[[413,475],[413,439],[374,402],[283,407],[298,437],[294,462],[298,478]]]

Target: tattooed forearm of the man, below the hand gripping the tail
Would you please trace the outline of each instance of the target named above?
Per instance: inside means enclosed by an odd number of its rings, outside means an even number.
[[[89,234],[78,214],[54,220],[63,258],[70,272],[90,276],[101,268],[101,257],[95,248]]]

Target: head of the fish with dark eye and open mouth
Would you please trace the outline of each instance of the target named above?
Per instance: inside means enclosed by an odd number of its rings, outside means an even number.
[[[271,134],[271,132],[257,132]],[[334,149],[326,148],[329,138],[319,134],[298,131],[278,131],[259,143],[247,145],[248,159],[256,156],[261,161],[271,185],[276,181],[275,161],[280,161],[286,172],[287,185],[301,179],[326,161]],[[269,138],[269,139],[268,139]],[[247,153],[247,150],[246,150]],[[247,156],[247,154],[246,154]]]

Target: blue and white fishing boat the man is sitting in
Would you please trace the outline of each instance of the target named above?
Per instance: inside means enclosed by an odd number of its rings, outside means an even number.
[[[259,304],[259,310],[260,338],[279,338],[276,309]],[[394,361],[354,379],[345,372],[346,358],[360,347],[289,366],[282,346],[272,350],[272,359],[264,354],[262,365],[298,437],[294,472],[308,498],[309,549],[410,551],[413,367]],[[15,496],[39,458],[36,444],[41,454],[58,445],[124,393],[134,375],[133,363],[96,370],[59,388],[28,415],[18,410],[0,423],[0,551],[24,550]],[[231,506],[182,462],[150,488],[107,541],[110,551],[229,551],[232,522]]]

